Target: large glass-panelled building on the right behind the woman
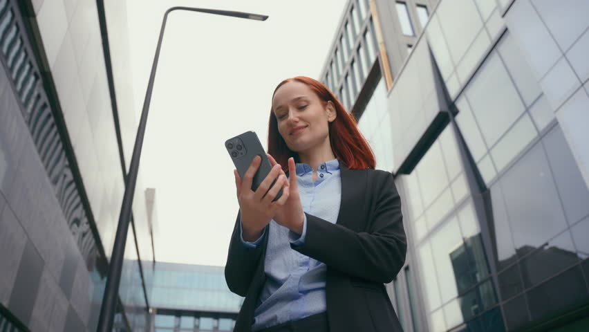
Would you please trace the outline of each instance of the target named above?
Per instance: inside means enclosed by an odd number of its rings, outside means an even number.
[[[405,331],[589,331],[586,12],[349,1],[320,77],[402,196]]]

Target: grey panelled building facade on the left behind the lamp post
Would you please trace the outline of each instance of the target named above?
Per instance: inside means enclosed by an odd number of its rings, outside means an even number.
[[[137,126],[126,24],[124,1],[0,1],[1,331],[97,328]],[[149,328],[144,190],[116,331]]]

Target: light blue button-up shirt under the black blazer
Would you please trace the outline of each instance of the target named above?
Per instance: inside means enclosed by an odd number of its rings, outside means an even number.
[[[303,211],[335,223],[342,201],[342,181],[339,162],[330,160],[319,165],[317,181],[313,183],[312,168],[297,164],[299,196]],[[268,246],[264,261],[266,282],[261,290],[258,306],[254,311],[252,331],[323,313],[327,310],[325,284],[327,266],[321,261],[305,256],[290,248],[290,243],[301,245],[307,234],[307,219],[303,221],[300,235],[276,223],[268,227]],[[263,238],[255,242],[241,241],[244,246],[255,248]]]

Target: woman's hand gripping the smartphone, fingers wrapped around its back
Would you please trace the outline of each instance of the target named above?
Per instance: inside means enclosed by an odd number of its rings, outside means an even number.
[[[271,160],[274,160],[274,158]],[[255,156],[250,168],[243,175],[243,181],[237,170],[234,169],[233,171],[235,175],[235,186],[237,188],[237,201],[239,201],[239,209],[241,210],[243,239],[248,242],[259,239],[263,228],[274,218],[277,210],[288,201],[289,183],[286,174],[284,174],[280,165],[275,165],[275,161],[272,164],[273,167],[268,176],[264,178],[255,192],[252,191],[252,181],[260,163],[260,156]],[[276,183],[268,191],[275,178],[277,178]],[[272,202],[281,189],[283,191],[280,199]],[[298,196],[299,193],[297,191]]]

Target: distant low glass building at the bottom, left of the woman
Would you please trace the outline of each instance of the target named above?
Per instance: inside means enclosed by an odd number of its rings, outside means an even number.
[[[243,297],[222,266],[156,263],[151,293],[155,332],[232,331]]]

